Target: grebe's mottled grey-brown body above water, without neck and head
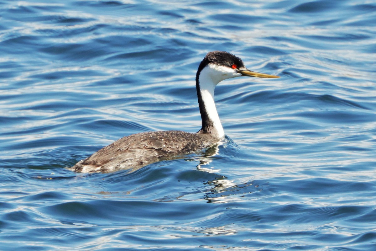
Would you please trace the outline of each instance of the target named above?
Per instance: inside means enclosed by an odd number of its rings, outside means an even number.
[[[218,138],[183,131],[142,132],[123,137],[79,161],[76,172],[132,169],[205,149]]]

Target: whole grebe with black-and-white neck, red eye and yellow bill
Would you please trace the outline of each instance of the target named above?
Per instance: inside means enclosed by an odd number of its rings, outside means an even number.
[[[132,134],[79,161],[71,170],[88,173],[138,169],[219,143],[224,139],[224,131],[215,108],[214,88],[224,79],[240,76],[279,78],[248,70],[240,58],[229,52],[209,52],[196,73],[197,98],[202,120],[202,127],[198,132],[157,131]]]

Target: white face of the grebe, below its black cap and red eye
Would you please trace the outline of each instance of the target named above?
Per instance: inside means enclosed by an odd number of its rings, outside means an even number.
[[[235,69],[217,64],[208,64],[201,71],[200,75],[207,75],[213,83],[218,84],[224,79],[236,78],[242,76]]]

